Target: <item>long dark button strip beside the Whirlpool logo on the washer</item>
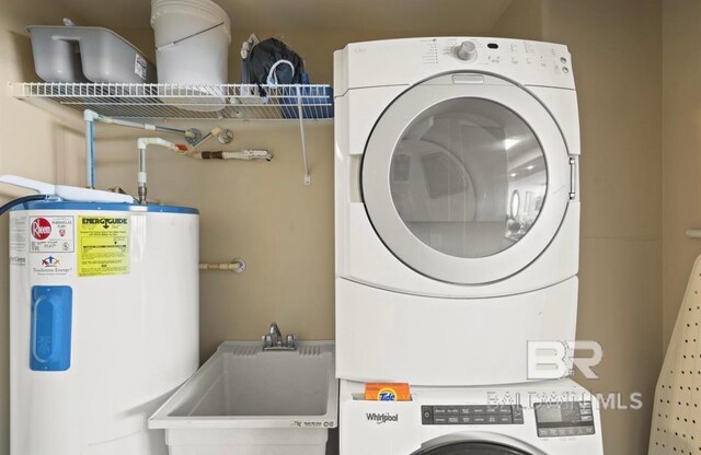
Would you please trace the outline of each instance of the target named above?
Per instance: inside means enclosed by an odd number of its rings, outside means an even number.
[[[421,422],[424,425],[512,425],[524,424],[520,405],[439,405],[422,406]]]

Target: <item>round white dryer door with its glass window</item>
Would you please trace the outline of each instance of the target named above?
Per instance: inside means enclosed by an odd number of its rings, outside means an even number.
[[[407,267],[459,284],[499,281],[551,243],[573,191],[562,133],[529,92],[478,73],[400,95],[363,158],[369,219]]]

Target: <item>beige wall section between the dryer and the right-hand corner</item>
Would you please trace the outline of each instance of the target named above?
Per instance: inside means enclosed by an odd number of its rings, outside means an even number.
[[[495,33],[540,32],[573,56],[582,127],[577,339],[604,347],[600,380],[577,380],[594,393],[644,394],[642,411],[604,412],[606,453],[644,454],[663,355],[660,2],[537,3],[514,2]]]

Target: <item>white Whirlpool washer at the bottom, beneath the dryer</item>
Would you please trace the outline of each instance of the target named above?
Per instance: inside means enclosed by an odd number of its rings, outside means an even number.
[[[571,380],[413,388],[364,401],[341,382],[341,455],[602,455],[596,397]]]

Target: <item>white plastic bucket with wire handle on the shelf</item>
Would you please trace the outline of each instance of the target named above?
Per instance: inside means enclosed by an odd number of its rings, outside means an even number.
[[[151,26],[156,37],[158,82],[179,85],[226,84],[231,20],[210,0],[152,0]],[[203,97],[163,101],[191,110],[219,110],[223,97],[204,90]],[[192,104],[192,105],[189,105]]]

